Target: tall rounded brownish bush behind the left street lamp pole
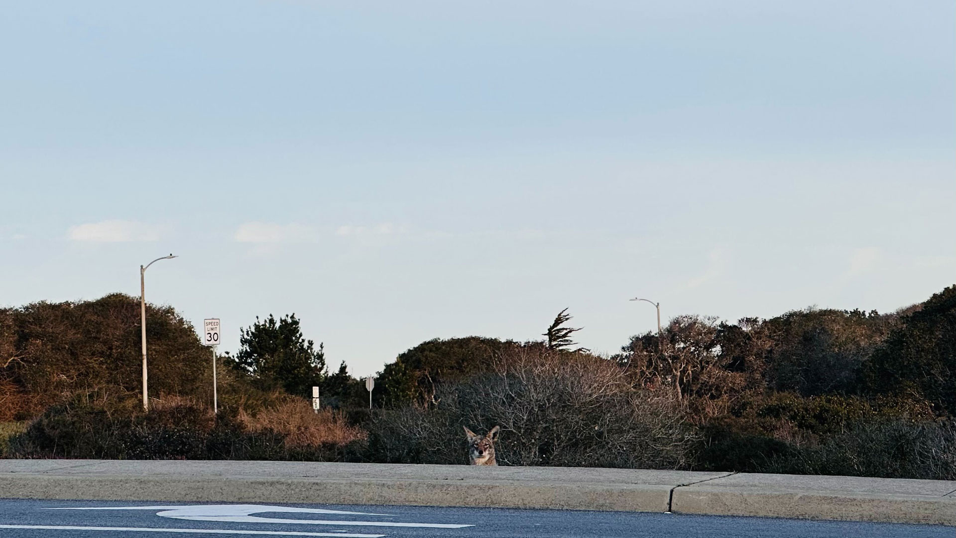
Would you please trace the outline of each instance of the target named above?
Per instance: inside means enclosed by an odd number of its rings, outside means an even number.
[[[74,394],[140,394],[140,316],[140,300],[119,293],[0,309],[0,420],[34,418]],[[192,325],[170,306],[147,304],[146,333],[151,393],[211,397],[210,353]]]

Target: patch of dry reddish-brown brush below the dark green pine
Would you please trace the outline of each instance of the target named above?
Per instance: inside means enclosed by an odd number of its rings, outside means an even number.
[[[346,424],[341,415],[328,409],[315,413],[308,401],[296,397],[283,398],[254,415],[240,411],[238,419],[246,431],[272,430],[284,435],[289,448],[344,446],[367,437],[364,430]]]

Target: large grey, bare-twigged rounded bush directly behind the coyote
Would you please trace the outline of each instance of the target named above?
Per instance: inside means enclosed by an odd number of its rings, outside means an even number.
[[[697,436],[670,397],[635,389],[605,359],[543,347],[499,357],[495,373],[439,388],[431,409],[384,410],[373,420],[367,458],[465,463],[467,426],[501,426],[500,464],[680,468]]]

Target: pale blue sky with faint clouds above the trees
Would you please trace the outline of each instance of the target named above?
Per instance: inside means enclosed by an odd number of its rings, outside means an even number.
[[[0,304],[139,294],[613,352],[663,317],[954,282],[951,2],[27,2],[0,18]]]

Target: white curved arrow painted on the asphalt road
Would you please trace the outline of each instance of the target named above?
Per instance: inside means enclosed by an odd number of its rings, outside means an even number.
[[[188,521],[215,521],[229,523],[272,523],[296,525],[335,525],[350,527],[426,527],[426,528],[464,528],[473,525],[459,525],[446,523],[402,523],[390,521],[348,521],[348,520],[318,520],[318,519],[281,519],[264,518],[250,514],[261,512],[293,512],[310,514],[352,514],[390,516],[390,514],[372,514],[368,512],[348,512],[343,510],[327,510],[324,508],[299,508],[295,506],[272,506],[269,504],[186,504],[173,506],[93,506],[93,507],[65,507],[47,508],[49,510],[161,510],[156,515],[164,518],[182,519]],[[341,536],[341,535],[337,535]]]

